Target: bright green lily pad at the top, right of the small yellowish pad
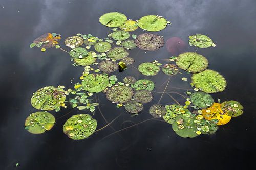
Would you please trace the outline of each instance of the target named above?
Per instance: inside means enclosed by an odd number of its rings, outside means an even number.
[[[167,20],[157,15],[147,15],[139,19],[139,27],[146,31],[160,31],[167,26]]]

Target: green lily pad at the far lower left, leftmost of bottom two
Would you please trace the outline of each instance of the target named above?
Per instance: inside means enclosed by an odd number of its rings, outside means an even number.
[[[55,124],[55,118],[48,112],[35,112],[30,114],[25,120],[25,129],[33,134],[49,131]]]

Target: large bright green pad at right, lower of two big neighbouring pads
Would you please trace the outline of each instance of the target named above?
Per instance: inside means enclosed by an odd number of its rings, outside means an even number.
[[[193,74],[191,79],[196,88],[206,93],[221,92],[227,86],[225,78],[219,72],[210,69]]]

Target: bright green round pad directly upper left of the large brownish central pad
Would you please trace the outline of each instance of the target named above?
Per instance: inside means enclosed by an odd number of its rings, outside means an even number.
[[[82,87],[84,90],[93,93],[103,91],[109,84],[109,78],[103,74],[89,74],[84,76]]]

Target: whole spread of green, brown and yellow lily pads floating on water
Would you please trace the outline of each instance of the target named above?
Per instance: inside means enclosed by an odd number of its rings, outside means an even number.
[[[126,76],[120,82],[116,75],[111,74],[117,70],[122,72],[127,69],[127,65],[135,62],[129,56],[129,50],[138,47],[141,50],[156,51],[164,46],[163,36],[153,33],[137,36],[130,32],[138,28],[151,32],[160,31],[170,22],[158,15],[143,16],[136,21],[127,20],[119,12],[106,13],[99,18],[99,22],[112,28],[108,37],[101,39],[91,34],[78,33],[65,39],[66,46],[71,48],[69,52],[58,45],[61,35],[56,33],[45,33],[31,43],[31,48],[38,47],[41,51],[55,47],[69,53],[73,65],[83,66],[84,71],[80,76],[81,82],[75,83],[72,89],[47,86],[33,93],[31,105],[38,112],[26,118],[25,129],[30,133],[40,134],[51,130],[55,118],[47,111],[58,112],[61,107],[71,105],[78,110],[88,109],[94,112],[99,105],[92,98],[95,93],[105,93],[109,101],[118,108],[124,106],[132,114],[140,113],[144,108],[143,104],[152,101],[155,83],[150,78],[136,80],[133,76]],[[199,48],[216,46],[209,37],[202,34],[189,36],[189,44]],[[190,85],[194,87],[194,91],[185,92],[187,98],[184,105],[177,103],[163,106],[157,103],[148,111],[153,117],[163,118],[165,122],[172,124],[176,134],[181,137],[212,134],[219,125],[228,123],[231,117],[243,114],[243,106],[237,101],[214,102],[209,93],[223,91],[227,83],[221,74],[207,69],[208,60],[203,55],[185,52],[169,58],[169,61],[164,65],[157,60],[141,63],[138,71],[145,76],[155,76],[162,70],[172,77],[181,69],[193,74]],[[187,81],[187,78],[182,80]],[[87,138],[96,129],[97,120],[89,114],[73,115],[63,125],[63,133],[74,140]]]

